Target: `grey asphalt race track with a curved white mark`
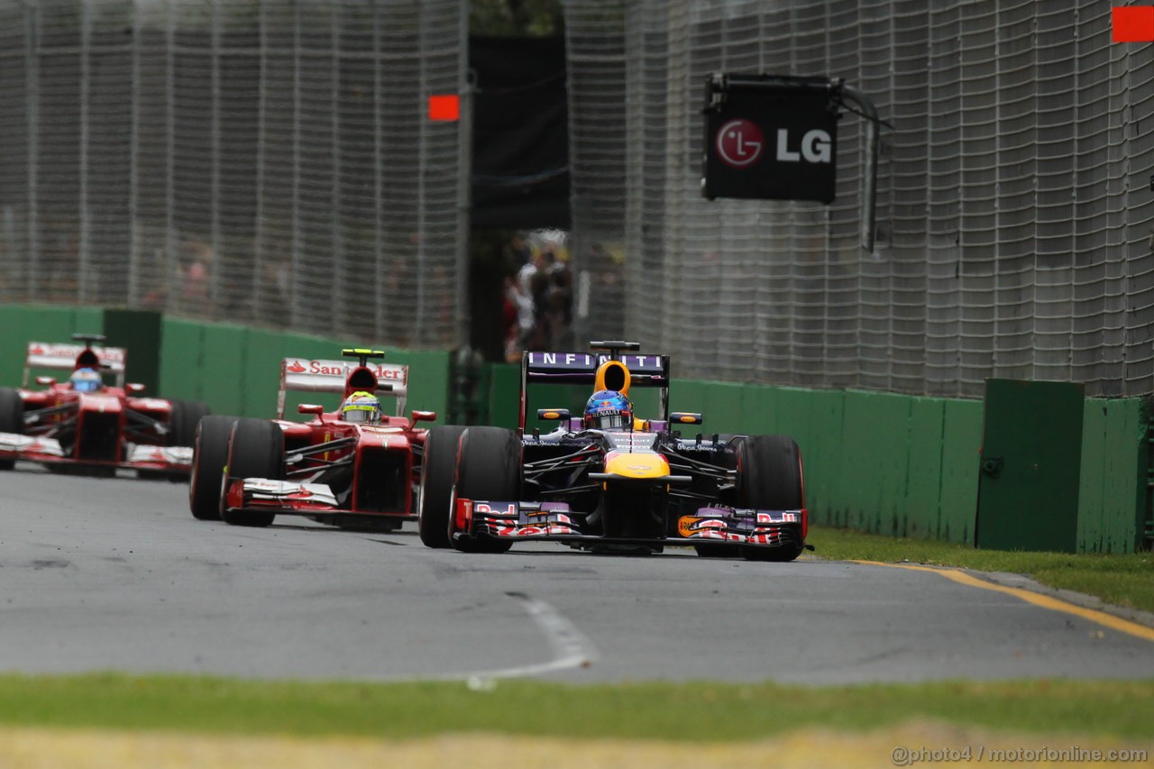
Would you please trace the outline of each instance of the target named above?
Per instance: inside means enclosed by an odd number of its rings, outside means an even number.
[[[1132,678],[1154,642],[924,572],[429,550],[196,521],[185,486],[0,473],[0,670],[848,684]]]

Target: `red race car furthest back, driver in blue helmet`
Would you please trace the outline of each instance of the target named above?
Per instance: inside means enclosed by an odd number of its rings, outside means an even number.
[[[96,334],[73,341],[80,344],[29,342],[22,387],[0,388],[0,470],[25,460],[58,471],[129,468],[141,477],[186,480],[204,404],[145,397],[143,384],[125,383],[122,348],[99,346],[105,338]],[[28,389],[33,369],[69,376],[40,375],[43,389]]]

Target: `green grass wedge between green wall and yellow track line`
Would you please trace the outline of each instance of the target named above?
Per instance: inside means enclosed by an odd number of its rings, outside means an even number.
[[[1118,606],[1154,612],[1154,553],[1071,555],[976,550],[934,539],[901,539],[810,527],[807,538],[818,558],[957,566],[981,572],[1026,574],[1042,584],[1097,596]]]

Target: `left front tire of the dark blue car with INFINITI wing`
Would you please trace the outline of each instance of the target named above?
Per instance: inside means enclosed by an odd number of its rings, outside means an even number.
[[[457,457],[457,498],[518,501],[520,500],[520,439],[503,427],[470,427],[460,436]],[[503,553],[511,542],[479,536],[475,539],[454,539],[455,518],[449,516],[449,542],[465,553]]]

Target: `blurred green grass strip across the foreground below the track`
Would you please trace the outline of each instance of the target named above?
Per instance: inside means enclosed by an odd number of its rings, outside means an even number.
[[[193,733],[421,738],[489,732],[674,741],[752,740],[805,726],[914,718],[1002,732],[1149,739],[1154,679],[838,687],[355,684],[175,675],[0,675],[0,725]]]

